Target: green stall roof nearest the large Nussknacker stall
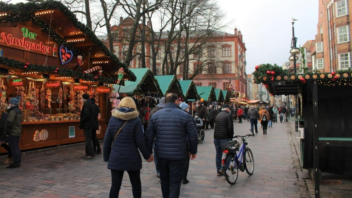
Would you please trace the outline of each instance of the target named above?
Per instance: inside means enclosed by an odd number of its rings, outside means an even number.
[[[120,87],[119,93],[125,93],[128,95],[159,93],[161,96],[164,95],[160,89],[158,81],[155,79],[150,69],[135,68],[130,70],[136,75],[137,80],[135,82],[125,81],[125,86]],[[114,85],[114,88],[117,90],[119,89],[117,85]]]

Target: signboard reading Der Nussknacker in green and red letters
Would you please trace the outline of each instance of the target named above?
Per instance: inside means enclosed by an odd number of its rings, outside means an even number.
[[[25,25],[0,27],[0,45],[56,57],[57,44],[42,31]]]

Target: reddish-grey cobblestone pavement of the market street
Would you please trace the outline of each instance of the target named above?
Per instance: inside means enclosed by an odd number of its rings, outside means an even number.
[[[235,134],[250,131],[246,120],[235,123]],[[297,140],[288,130],[287,123],[274,123],[263,135],[247,139],[254,155],[254,174],[240,172],[235,185],[224,177],[216,176],[213,130],[206,130],[205,143],[199,144],[196,160],[191,160],[189,184],[181,186],[180,197],[310,197],[300,172],[296,149]],[[294,143],[296,141],[296,143]],[[94,160],[83,160],[83,144],[55,151],[24,155],[21,168],[0,167],[0,197],[108,197],[110,171],[102,155]],[[154,163],[143,162],[141,171],[142,197],[161,197],[160,180],[156,177]],[[131,198],[131,184],[125,174],[120,197]]]

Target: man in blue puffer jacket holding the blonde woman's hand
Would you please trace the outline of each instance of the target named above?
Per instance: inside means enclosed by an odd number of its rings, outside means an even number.
[[[147,148],[152,154],[153,140],[161,175],[161,190],[164,198],[180,196],[184,163],[187,157],[196,158],[198,134],[193,119],[180,109],[178,97],[169,93],[163,109],[154,113],[145,134]],[[187,153],[186,136],[189,140]]]

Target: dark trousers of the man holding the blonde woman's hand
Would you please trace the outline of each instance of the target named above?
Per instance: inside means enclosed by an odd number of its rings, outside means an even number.
[[[184,161],[185,160],[166,160],[158,158],[163,198],[180,197]]]

